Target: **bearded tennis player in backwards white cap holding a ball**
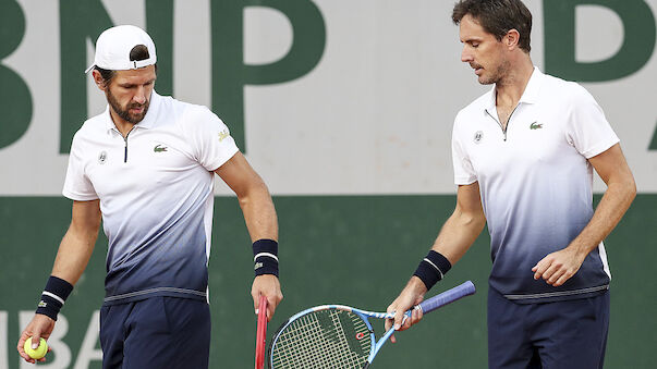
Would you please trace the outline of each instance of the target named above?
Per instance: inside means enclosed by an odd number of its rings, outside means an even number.
[[[108,107],[73,138],[62,192],[73,200],[71,225],[19,341],[26,361],[35,359],[23,344],[49,337],[102,220],[109,241],[102,367],[207,368],[215,173],[235,192],[253,242],[254,306],[266,296],[271,319],[282,299],[278,224],[267,186],[217,115],[155,91],[156,62],[155,45],[138,27],[117,26],[98,37],[86,73]]]

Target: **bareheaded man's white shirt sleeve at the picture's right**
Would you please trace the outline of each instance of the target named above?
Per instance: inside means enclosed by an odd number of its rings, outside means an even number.
[[[580,85],[571,99],[567,135],[569,143],[586,159],[619,142],[600,106]]]

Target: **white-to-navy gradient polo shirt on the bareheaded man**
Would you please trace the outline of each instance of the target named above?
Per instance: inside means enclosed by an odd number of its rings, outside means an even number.
[[[562,286],[534,280],[532,268],[562,249],[593,217],[587,161],[619,142],[580,85],[537,67],[502,131],[495,87],[459,112],[452,136],[454,182],[478,182],[490,232],[489,284],[508,299],[543,303],[600,294],[611,274],[598,245]]]

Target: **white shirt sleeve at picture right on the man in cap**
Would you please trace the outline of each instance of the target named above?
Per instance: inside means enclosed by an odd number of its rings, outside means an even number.
[[[209,109],[190,108],[185,120],[190,120],[185,124],[196,160],[208,171],[217,170],[239,151],[228,126]]]

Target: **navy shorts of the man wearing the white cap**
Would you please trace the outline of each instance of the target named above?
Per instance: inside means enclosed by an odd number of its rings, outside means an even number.
[[[102,368],[207,368],[210,309],[178,297],[104,306],[100,310]]]

